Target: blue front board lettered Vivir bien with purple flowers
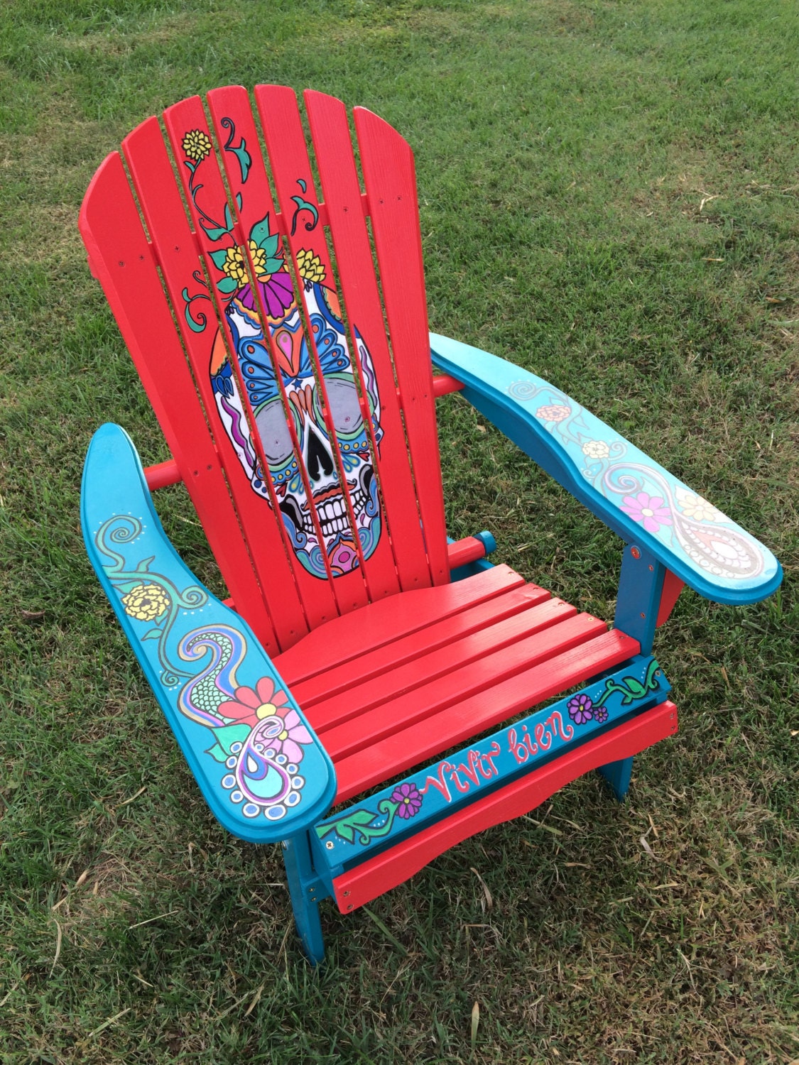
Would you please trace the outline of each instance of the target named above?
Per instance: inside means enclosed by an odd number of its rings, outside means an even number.
[[[344,868],[421,832],[631,715],[662,703],[669,690],[657,661],[637,655],[576,694],[325,818],[311,834],[320,875],[329,883],[328,878],[339,875]]]

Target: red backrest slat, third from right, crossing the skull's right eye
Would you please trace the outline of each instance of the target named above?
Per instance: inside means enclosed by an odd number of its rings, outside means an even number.
[[[309,327],[309,354],[316,375],[326,439],[339,468],[343,504],[354,530],[353,542],[357,544],[370,600],[376,601],[399,590],[374,458],[375,430],[379,433],[379,397],[375,393],[375,409],[370,410],[368,392],[360,391],[361,367],[357,358],[353,360],[353,349],[347,343],[294,92],[259,85],[256,100]]]

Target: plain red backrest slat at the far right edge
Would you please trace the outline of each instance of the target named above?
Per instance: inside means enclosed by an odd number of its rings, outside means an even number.
[[[377,115],[363,108],[354,114],[427,557],[434,584],[446,584],[450,569],[413,154]]]

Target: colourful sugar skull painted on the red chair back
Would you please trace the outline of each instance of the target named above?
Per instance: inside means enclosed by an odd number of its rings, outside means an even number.
[[[249,283],[232,295],[225,316],[230,342],[235,349],[244,378],[247,402],[266,458],[272,486],[291,545],[306,570],[325,578],[325,555],[330,571],[339,576],[354,570],[358,554],[346,501],[337,469],[335,446],[338,442],[355,517],[356,534],[363,557],[369,558],[380,536],[380,507],[369,430],[363,420],[353,362],[336,293],[322,281],[324,272],[319,259],[308,252],[300,263],[310,327],[319,351],[336,441],[325,425],[323,394],[313,373],[308,342],[294,297],[291,277],[281,268],[272,275],[257,276],[268,329],[277,353],[278,370],[293,421],[307,487],[297,462],[287,412],[264,339],[256,300]],[[375,441],[382,437],[380,400],[369,350],[355,329],[362,379],[369,398]],[[244,415],[240,390],[225,343],[217,333],[211,360],[211,379],[217,408],[225,429],[239,455],[252,489],[270,498],[268,488]],[[322,532],[317,536],[308,489],[313,498]]]

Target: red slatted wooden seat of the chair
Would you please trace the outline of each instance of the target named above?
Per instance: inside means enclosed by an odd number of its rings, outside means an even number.
[[[336,802],[637,654],[507,566],[403,592],[275,659],[336,766]]]

